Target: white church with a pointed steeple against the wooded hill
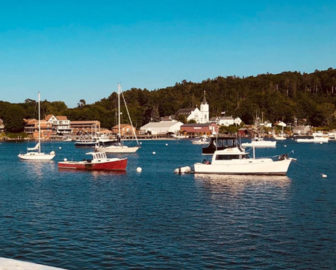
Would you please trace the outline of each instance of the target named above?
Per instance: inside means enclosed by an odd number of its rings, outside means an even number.
[[[177,111],[176,116],[184,115],[187,121],[194,120],[197,124],[209,123],[209,104],[205,98],[205,91],[203,101],[200,108],[186,108]]]

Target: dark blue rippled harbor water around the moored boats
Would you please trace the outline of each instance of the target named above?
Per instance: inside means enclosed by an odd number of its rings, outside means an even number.
[[[28,145],[0,144],[0,257],[67,269],[336,268],[336,143],[257,151],[294,150],[288,177],[174,175],[204,158],[182,140],[144,141],[124,174],[59,171],[89,150],[71,142],[43,144],[55,161],[22,162]]]

